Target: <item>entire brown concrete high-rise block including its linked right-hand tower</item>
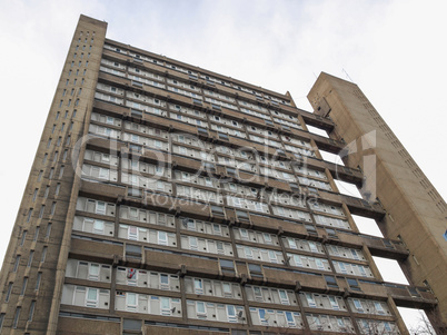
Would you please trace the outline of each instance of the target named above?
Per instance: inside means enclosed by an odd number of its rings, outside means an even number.
[[[445,317],[444,201],[380,136],[380,201],[337,189],[369,183],[360,156],[322,160],[377,128],[345,108],[346,82],[321,75],[308,112],[106,30],[81,16],[74,31],[0,274],[0,334],[408,334],[397,306]],[[372,256],[416,286],[384,282]]]

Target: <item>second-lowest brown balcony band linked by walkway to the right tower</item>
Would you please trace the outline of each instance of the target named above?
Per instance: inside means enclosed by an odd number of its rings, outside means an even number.
[[[408,252],[399,242],[388,242],[381,238],[366,236],[347,230],[336,229],[332,227],[304,225],[300,221],[284,220],[279,217],[266,216],[261,214],[249,213],[238,208],[226,208],[210,204],[197,204],[195,201],[181,201],[176,204],[175,199],[166,195],[157,195],[157,197],[136,198],[127,195],[126,188],[117,188],[111,185],[88,183],[82,180],[83,196],[98,198],[98,190],[102,195],[109,195],[110,203],[119,203],[133,207],[142,207],[146,209],[155,209],[161,213],[171,213],[222,224],[230,224],[260,231],[269,231],[272,234],[297,238],[311,238],[319,242],[329,242],[330,244],[347,247],[361,248],[364,245],[370,248],[372,255],[387,256],[394,259],[405,259]],[[100,198],[105,198],[101,196]],[[163,204],[163,205],[160,205]],[[310,229],[310,230],[309,230]]]

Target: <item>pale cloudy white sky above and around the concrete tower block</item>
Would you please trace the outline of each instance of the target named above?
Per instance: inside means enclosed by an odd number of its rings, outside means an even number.
[[[80,13],[107,21],[108,38],[275,91],[289,90],[309,111],[306,96],[319,72],[348,79],[347,72],[447,196],[446,156],[439,155],[447,124],[446,1],[0,4],[0,259]]]

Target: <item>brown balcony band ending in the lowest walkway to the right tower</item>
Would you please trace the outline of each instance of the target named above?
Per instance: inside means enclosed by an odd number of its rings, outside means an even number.
[[[232,266],[228,263],[217,262],[218,259],[213,257],[208,257],[209,259],[201,257],[200,262],[197,262],[196,257],[186,256],[185,253],[163,253],[157,248],[145,248],[143,252],[140,249],[138,255],[137,250],[129,249],[126,245],[73,238],[70,255],[79,259],[115,266],[131,266],[180,274],[180,276],[239,282],[244,285],[252,283],[292,290],[309,290],[370,299],[387,299],[388,296],[391,296],[399,306],[413,304],[418,305],[419,308],[430,308],[436,304],[434,295],[421,287],[362,279],[352,282],[347,280],[348,277],[346,276],[285,270],[269,265],[261,265],[254,270],[246,262],[236,262],[236,264],[232,263]],[[259,273],[258,269],[260,269]]]

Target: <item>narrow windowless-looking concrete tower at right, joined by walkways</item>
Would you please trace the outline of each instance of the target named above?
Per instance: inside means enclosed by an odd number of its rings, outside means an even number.
[[[358,86],[321,73],[308,98],[316,114],[336,124],[334,138],[356,147],[344,161],[362,169],[364,195],[375,194],[387,211],[378,221],[384,236],[408,248],[410,257],[400,262],[408,280],[435,293],[439,318],[446,323],[446,203]],[[372,169],[365,166],[368,155],[376,159]]]

